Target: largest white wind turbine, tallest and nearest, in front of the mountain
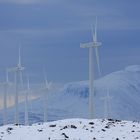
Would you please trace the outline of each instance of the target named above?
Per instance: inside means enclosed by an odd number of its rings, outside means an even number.
[[[97,21],[96,21],[97,24]],[[102,44],[97,41],[97,25],[95,24],[95,31],[93,33],[93,41],[89,43],[80,44],[81,48],[89,49],[89,119],[94,118],[94,68],[93,68],[93,48],[95,48],[96,60],[98,65],[98,71],[100,74],[100,65],[99,65],[99,55],[98,47]]]

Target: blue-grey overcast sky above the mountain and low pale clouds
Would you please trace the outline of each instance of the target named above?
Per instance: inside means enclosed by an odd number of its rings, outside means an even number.
[[[32,81],[43,80],[44,67],[52,81],[87,80],[80,43],[92,40],[96,16],[103,75],[140,64],[139,13],[139,0],[0,0],[0,81],[17,63],[19,42]]]

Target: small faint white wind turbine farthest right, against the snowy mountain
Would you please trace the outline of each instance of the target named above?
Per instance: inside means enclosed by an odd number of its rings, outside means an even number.
[[[101,100],[104,101],[104,117],[105,119],[109,118],[109,107],[110,107],[110,100],[112,97],[109,95],[109,90],[107,90],[107,94],[105,97],[102,97]]]

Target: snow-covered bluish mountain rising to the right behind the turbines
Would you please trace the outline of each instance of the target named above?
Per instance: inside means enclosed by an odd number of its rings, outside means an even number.
[[[104,118],[102,97],[111,96],[109,118],[140,120],[140,66],[129,66],[95,81],[95,118]],[[48,95],[48,120],[88,118],[88,81],[66,84]],[[30,123],[43,121],[43,98],[29,103]],[[9,122],[14,120],[14,108],[9,109]],[[2,116],[1,116],[2,122]],[[20,122],[24,122],[24,103],[20,105]]]

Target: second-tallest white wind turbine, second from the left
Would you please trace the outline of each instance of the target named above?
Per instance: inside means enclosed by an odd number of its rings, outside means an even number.
[[[23,79],[22,79],[22,71],[25,68],[21,65],[21,53],[20,53],[20,47],[19,47],[19,56],[18,56],[18,63],[17,66],[14,68],[9,69],[9,72],[15,73],[15,123],[19,123],[19,83],[23,86]]]

